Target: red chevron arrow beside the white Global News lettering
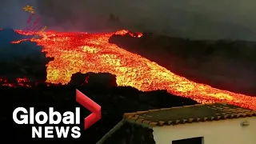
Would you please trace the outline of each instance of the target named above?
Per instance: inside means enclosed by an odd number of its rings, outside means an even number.
[[[92,112],[92,114],[85,118],[85,130],[102,118],[102,107],[79,90],[76,90],[76,101]]]

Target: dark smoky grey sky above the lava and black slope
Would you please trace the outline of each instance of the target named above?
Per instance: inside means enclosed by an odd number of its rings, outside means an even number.
[[[49,30],[100,32],[125,27],[194,39],[256,41],[253,0],[8,0],[1,1],[2,28],[23,29],[34,6]],[[108,22],[110,13],[121,22]]]

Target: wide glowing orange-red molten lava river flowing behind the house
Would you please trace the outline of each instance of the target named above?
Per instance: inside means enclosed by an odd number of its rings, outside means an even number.
[[[22,30],[16,32],[25,34]],[[126,30],[121,30],[115,34],[126,33]],[[32,32],[26,33],[29,34]],[[106,72],[117,76],[118,86],[133,86],[142,91],[168,90],[171,94],[192,98],[200,103],[227,102],[256,110],[256,97],[191,82],[155,62],[109,43],[113,34],[40,32],[42,38],[21,41],[37,42],[43,46],[46,57],[54,58],[47,64],[47,82],[66,84],[70,82],[72,74],[79,71]]]

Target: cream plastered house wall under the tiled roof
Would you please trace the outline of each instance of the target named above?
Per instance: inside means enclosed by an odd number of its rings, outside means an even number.
[[[246,120],[250,125],[241,126]],[[156,144],[171,144],[174,140],[196,137],[204,137],[203,144],[256,144],[256,117],[157,126],[153,130]]]

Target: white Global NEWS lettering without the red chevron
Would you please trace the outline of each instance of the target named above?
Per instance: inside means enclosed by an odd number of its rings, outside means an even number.
[[[22,114],[18,118],[17,115],[19,112],[22,112]],[[42,119],[40,119],[40,117]],[[57,119],[54,120],[54,117]],[[58,111],[54,111],[53,107],[50,107],[49,114],[46,114],[44,111],[39,111],[34,116],[34,107],[30,107],[29,112],[24,107],[18,107],[14,110],[13,119],[17,124],[32,125],[36,122],[39,125],[43,125],[49,121],[49,124],[51,125],[58,125],[61,124],[61,122],[65,125],[74,125],[80,124],[80,108],[75,108],[75,114],[71,111],[66,111],[64,114],[60,114]],[[42,129],[44,129],[44,135],[42,134]],[[67,138],[70,130],[72,132],[72,138],[79,138],[81,136],[80,128],[78,126],[32,126],[32,138],[36,138],[36,136],[38,138],[54,138],[54,129],[58,138]]]

